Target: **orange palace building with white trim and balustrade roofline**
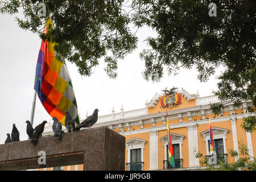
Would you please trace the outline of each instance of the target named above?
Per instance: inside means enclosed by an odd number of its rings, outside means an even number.
[[[121,108],[118,113],[112,110],[109,115],[101,115],[93,127],[107,126],[126,138],[126,170],[199,169],[199,159],[195,157],[195,152],[210,155],[209,117],[217,159],[228,163],[237,160],[230,156],[228,150],[238,151],[240,141],[247,146],[250,156],[256,156],[256,130],[247,133],[241,127],[243,118],[253,115],[246,111],[251,101],[243,102],[240,108],[234,108],[233,102],[223,102],[225,105],[222,113],[214,115],[210,110],[210,103],[219,102],[216,96],[200,97],[199,92],[190,94],[183,88],[180,94],[180,104],[168,109],[175,167],[167,162],[167,114],[166,109],[160,107],[163,94],[155,93],[144,108],[129,111]],[[65,129],[64,131],[66,132]],[[43,135],[53,135],[51,123],[46,125]],[[81,164],[38,170],[80,171],[82,168]]]

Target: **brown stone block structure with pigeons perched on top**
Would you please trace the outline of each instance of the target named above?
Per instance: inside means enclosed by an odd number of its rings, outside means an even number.
[[[39,151],[46,165],[39,165]],[[84,164],[84,170],[125,170],[125,137],[108,127],[95,127],[53,136],[0,145],[0,170],[24,170]]]

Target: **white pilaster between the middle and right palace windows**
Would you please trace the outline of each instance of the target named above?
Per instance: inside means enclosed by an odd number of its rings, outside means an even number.
[[[198,151],[197,124],[187,126],[188,129],[188,157],[189,167],[198,167],[199,159],[196,158],[195,150]]]

